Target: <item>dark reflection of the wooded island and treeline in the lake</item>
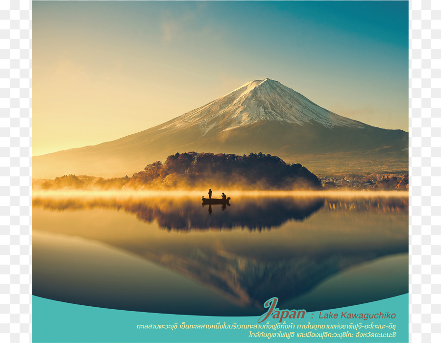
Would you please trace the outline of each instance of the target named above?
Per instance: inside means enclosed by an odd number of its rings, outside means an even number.
[[[303,221],[324,204],[321,198],[238,198],[226,209],[223,205],[200,205],[199,199],[181,197],[145,199],[57,199],[34,198],[32,206],[51,210],[123,209],[148,223],[156,221],[161,228],[177,231],[231,230],[250,231],[279,227],[286,221]],[[207,213],[208,209],[208,213]]]

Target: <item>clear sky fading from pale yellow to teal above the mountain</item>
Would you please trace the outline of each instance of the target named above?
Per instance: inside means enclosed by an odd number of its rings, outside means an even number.
[[[408,130],[407,1],[33,1],[32,155],[96,145],[271,78]]]

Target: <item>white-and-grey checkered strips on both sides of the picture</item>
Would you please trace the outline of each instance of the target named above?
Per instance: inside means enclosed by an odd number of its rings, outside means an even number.
[[[441,342],[441,1],[409,6],[409,340]],[[0,1],[0,342],[31,342],[31,2]]]

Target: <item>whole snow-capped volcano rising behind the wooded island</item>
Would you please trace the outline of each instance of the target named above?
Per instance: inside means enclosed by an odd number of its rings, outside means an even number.
[[[280,82],[249,81],[171,121],[115,141],[33,157],[33,177],[129,176],[176,152],[270,153],[312,172],[408,169],[409,136],[332,113]]]

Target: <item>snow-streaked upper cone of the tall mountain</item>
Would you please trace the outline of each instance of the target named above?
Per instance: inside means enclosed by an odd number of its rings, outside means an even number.
[[[198,125],[207,133],[223,131],[262,120],[295,123],[319,123],[326,127],[366,125],[332,113],[278,81],[248,81],[234,91],[168,122],[164,128]]]

